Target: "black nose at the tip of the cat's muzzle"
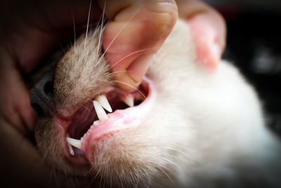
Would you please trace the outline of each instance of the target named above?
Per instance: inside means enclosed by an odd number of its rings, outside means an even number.
[[[45,74],[30,93],[30,104],[40,117],[53,115],[55,109],[53,81],[53,74]]]

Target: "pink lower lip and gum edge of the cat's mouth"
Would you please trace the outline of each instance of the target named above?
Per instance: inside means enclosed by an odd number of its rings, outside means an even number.
[[[81,151],[85,153],[87,159],[91,158],[92,151],[95,149],[95,145],[101,137],[112,135],[124,128],[138,126],[148,116],[156,98],[156,88],[154,83],[146,77],[141,84],[148,93],[147,97],[140,105],[126,109],[117,109],[115,112],[107,114],[107,119],[95,121],[95,125],[92,125],[89,130],[87,130],[84,136],[81,137],[81,140],[74,140],[76,143],[71,142],[74,147],[80,148]],[[67,140],[69,140],[69,138],[67,138]],[[68,153],[67,156],[72,158],[69,154],[70,151],[68,151],[68,149],[66,150]]]

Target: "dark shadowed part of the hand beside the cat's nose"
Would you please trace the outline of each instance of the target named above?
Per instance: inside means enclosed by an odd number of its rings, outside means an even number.
[[[79,28],[87,25],[88,15],[91,15],[91,22],[98,21],[103,14],[104,2],[92,1],[90,14],[90,1],[86,0],[1,1],[1,4],[5,4],[1,6],[5,9],[0,14],[0,23],[4,26],[0,35],[1,175],[9,186],[13,184],[22,187],[23,183],[28,183],[32,187],[52,187],[50,184],[54,181],[51,181],[50,169],[44,165],[44,159],[32,141],[36,115],[30,107],[29,90],[24,78],[32,73],[39,62],[61,41],[67,36],[73,36],[73,22],[76,32],[79,32]],[[133,3],[132,6],[141,5]],[[147,8],[152,8],[153,13],[155,6],[157,4]],[[124,14],[130,13],[130,8],[125,8],[119,13],[120,9],[124,8],[122,1],[112,5],[106,4],[106,7],[105,15],[113,20],[119,21]],[[142,11],[145,11],[145,8]],[[176,14],[176,11],[174,13]],[[131,23],[133,22],[134,20]],[[129,29],[124,29],[124,32],[130,32]],[[160,32],[165,33],[165,28]],[[104,36],[106,39],[112,34]]]

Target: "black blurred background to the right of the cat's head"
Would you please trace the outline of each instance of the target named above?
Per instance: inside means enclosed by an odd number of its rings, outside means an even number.
[[[281,0],[204,0],[226,18],[223,58],[259,93],[267,125],[281,137]]]

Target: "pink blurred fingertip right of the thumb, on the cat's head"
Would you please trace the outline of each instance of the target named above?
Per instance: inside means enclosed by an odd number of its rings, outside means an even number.
[[[218,67],[225,45],[225,34],[216,24],[214,18],[204,13],[188,20],[197,61],[209,69]]]

